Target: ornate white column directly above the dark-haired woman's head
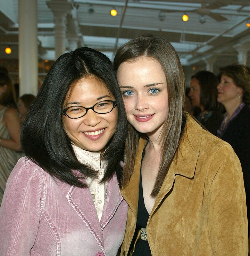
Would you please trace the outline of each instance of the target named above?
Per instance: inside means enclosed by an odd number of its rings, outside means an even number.
[[[55,58],[65,53],[67,14],[73,8],[71,2],[62,0],[47,1],[55,17]]]

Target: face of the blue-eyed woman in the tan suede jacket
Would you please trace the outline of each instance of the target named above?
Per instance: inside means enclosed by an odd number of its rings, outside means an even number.
[[[147,135],[159,133],[168,114],[168,90],[160,63],[151,57],[123,62],[117,70],[128,122]]]

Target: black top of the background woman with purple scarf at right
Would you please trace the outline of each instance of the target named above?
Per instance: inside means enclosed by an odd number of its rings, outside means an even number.
[[[250,234],[250,108],[245,105],[226,127],[221,139],[228,142],[241,162],[247,198],[248,234]]]

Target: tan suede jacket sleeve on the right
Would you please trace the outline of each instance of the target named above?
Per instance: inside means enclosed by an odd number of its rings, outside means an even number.
[[[240,161],[230,145],[222,146],[215,153],[208,173],[207,216],[212,255],[247,256],[243,175]]]

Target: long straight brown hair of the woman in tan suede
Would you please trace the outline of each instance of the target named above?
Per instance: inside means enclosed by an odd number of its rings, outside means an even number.
[[[164,38],[154,35],[136,37],[121,46],[114,58],[114,68],[125,61],[132,61],[140,56],[156,59],[163,68],[168,85],[168,114],[161,131],[161,164],[151,195],[159,193],[170,164],[178,149],[185,124],[185,77],[180,59],[174,47]],[[125,144],[123,185],[129,182],[133,172],[135,153],[140,134],[130,125]]]

